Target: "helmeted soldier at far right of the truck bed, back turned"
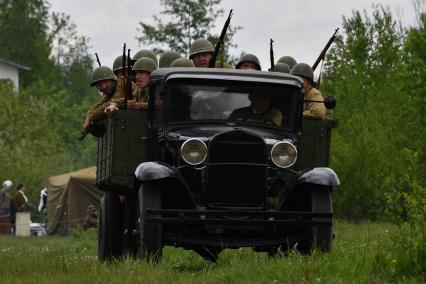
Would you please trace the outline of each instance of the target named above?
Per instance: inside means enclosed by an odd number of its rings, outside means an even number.
[[[324,119],[325,106],[321,93],[312,87],[314,83],[314,71],[311,66],[306,63],[297,63],[291,69],[292,75],[299,76],[303,79],[304,99],[311,102],[305,102],[303,106],[303,116],[310,119]]]

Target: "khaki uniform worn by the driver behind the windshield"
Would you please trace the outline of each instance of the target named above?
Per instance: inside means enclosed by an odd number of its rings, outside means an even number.
[[[277,108],[269,108],[263,113],[253,112],[251,107],[244,107],[234,110],[229,116],[230,120],[241,120],[248,122],[260,122],[281,126],[283,116]]]

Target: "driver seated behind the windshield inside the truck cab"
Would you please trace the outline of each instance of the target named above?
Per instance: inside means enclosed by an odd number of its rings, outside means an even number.
[[[250,106],[234,110],[229,120],[260,122],[281,126],[283,116],[279,109],[270,106],[271,96],[268,94],[250,94]]]

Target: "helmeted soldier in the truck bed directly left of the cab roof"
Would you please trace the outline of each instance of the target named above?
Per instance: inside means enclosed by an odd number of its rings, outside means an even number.
[[[127,101],[128,109],[147,109],[148,108],[148,87],[151,72],[157,69],[154,60],[148,57],[138,59],[133,65],[132,72],[136,80],[139,92],[133,96],[133,99]],[[105,109],[106,113],[114,112],[124,106],[124,94],[117,92],[114,95],[111,104]]]

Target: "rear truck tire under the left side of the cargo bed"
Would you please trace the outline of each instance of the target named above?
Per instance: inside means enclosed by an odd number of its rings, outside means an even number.
[[[98,259],[100,262],[123,256],[121,202],[117,194],[107,192],[101,199]]]

